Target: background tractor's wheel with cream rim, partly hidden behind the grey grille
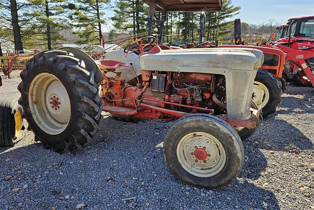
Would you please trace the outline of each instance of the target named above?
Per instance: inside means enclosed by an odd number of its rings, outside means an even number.
[[[279,81],[265,70],[258,70],[254,85],[252,100],[262,108],[262,117],[276,112],[277,106],[281,103],[282,90]]]

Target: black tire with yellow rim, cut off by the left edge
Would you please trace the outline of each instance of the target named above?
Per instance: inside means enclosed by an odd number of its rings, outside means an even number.
[[[18,139],[15,133],[15,118],[17,112],[23,113],[22,107],[17,100],[1,99],[0,100],[0,147],[13,146],[14,140]],[[23,122],[23,121],[22,121]],[[20,122],[22,130],[23,123]],[[23,131],[22,131],[23,132]]]

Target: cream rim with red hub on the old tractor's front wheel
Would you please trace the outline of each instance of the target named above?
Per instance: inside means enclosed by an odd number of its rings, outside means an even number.
[[[208,133],[186,134],[177,145],[177,158],[188,173],[202,178],[218,174],[226,164],[226,151],[219,140]]]

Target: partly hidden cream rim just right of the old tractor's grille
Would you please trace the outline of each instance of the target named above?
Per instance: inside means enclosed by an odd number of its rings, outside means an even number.
[[[254,81],[252,100],[258,108],[263,108],[268,103],[269,91],[261,82]]]

